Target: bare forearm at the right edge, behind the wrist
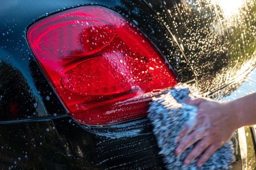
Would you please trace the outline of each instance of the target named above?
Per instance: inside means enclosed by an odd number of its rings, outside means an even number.
[[[229,103],[237,120],[237,128],[256,124],[256,93]]]

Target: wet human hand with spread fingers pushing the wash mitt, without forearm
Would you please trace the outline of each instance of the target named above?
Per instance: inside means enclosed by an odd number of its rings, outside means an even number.
[[[185,125],[177,137],[179,145],[176,154],[183,153],[191,145],[197,143],[184,160],[189,165],[201,153],[197,167],[202,165],[233,136],[237,127],[236,111],[230,102],[217,102],[210,99],[197,98],[186,101],[187,104],[196,105],[197,124],[189,129]]]

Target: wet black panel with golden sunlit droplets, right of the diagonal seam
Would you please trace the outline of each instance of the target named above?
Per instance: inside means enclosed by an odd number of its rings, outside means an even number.
[[[254,0],[145,1],[176,37],[202,91],[221,88],[255,66]]]

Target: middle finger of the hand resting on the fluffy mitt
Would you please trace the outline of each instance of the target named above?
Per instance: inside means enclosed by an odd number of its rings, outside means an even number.
[[[204,131],[203,130],[197,130],[192,132],[189,136],[187,136],[185,139],[183,139],[180,144],[178,145],[177,149],[175,150],[175,153],[177,155],[183,153],[188,147],[196,143],[198,140],[200,140],[203,137]]]

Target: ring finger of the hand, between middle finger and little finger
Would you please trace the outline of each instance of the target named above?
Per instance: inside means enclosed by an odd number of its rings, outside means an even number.
[[[194,159],[197,158],[201,153],[204,152],[206,148],[210,145],[210,142],[207,138],[203,138],[193,150],[186,156],[184,160],[185,165],[189,165]]]

